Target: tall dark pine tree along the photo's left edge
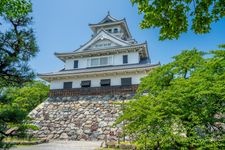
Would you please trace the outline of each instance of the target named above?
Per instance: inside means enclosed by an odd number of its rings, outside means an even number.
[[[2,145],[2,139],[11,136],[14,130],[19,133],[31,127],[25,118],[28,108],[36,104],[32,101],[27,108],[22,107],[22,102],[27,105],[29,101],[24,98],[15,101],[2,95],[8,87],[23,86],[34,77],[27,64],[38,52],[31,12],[29,0],[0,0],[0,148],[6,146]]]

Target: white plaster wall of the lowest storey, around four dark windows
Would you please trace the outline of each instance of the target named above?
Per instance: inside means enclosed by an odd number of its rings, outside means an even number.
[[[50,89],[63,89],[64,82],[73,82],[73,88],[80,88],[81,81],[91,80],[91,87],[99,87],[101,79],[111,79],[111,86],[121,85],[121,78],[132,78],[132,84],[139,84],[140,79],[146,76],[144,73],[117,75],[117,76],[102,76],[91,78],[67,79],[67,80],[54,80],[50,83]]]

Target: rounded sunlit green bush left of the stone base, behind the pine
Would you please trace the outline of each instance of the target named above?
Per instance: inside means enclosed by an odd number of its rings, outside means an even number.
[[[27,83],[22,88],[5,88],[0,97],[0,118],[15,123],[21,122],[22,118],[47,98],[48,92],[49,86],[39,81]],[[18,117],[15,117],[17,115]]]

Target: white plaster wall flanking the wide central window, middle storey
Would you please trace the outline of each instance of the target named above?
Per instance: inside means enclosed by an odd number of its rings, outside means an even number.
[[[128,64],[136,64],[139,63],[139,53],[138,52],[130,52],[130,53],[121,53],[121,54],[115,54],[111,55],[113,56],[113,65],[122,65],[123,64],[123,55],[128,55]],[[104,57],[104,56],[102,56]],[[86,58],[79,58],[79,59],[69,59],[65,62],[65,69],[74,69],[74,60],[78,60],[78,68],[87,68],[87,59]]]

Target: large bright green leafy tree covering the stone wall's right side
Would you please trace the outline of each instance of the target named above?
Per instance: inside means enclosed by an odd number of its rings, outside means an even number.
[[[225,51],[186,50],[173,59],[142,79],[117,123],[126,122],[141,149],[222,149]]]

